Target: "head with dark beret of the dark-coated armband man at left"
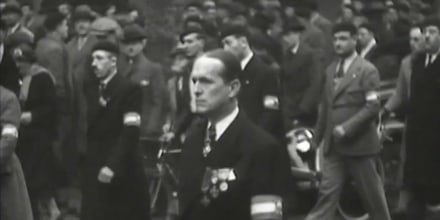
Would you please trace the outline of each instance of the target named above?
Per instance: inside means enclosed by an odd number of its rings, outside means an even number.
[[[119,47],[111,41],[99,41],[92,49],[92,68],[99,80],[117,70]]]

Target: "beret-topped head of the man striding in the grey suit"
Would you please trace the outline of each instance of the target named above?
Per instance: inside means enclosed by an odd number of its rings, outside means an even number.
[[[338,56],[348,57],[356,51],[357,28],[354,24],[336,24],[332,33],[334,50]]]

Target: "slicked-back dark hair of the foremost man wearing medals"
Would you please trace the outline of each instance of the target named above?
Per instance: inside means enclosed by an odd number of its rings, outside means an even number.
[[[220,60],[223,63],[224,71],[220,74],[225,82],[238,79],[241,66],[237,57],[224,49],[216,49],[206,52],[203,57]]]

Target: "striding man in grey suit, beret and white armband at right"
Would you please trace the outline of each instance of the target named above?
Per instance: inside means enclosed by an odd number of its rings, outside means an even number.
[[[315,130],[315,141],[324,152],[323,176],[318,202],[306,219],[333,219],[345,184],[354,180],[370,219],[389,220],[376,167],[381,149],[374,123],[380,109],[379,74],[357,55],[353,24],[338,24],[333,33],[339,59],[327,68]]]

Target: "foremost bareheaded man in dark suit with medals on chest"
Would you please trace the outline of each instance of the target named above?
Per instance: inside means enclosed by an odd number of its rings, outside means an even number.
[[[285,193],[286,150],[238,107],[240,72],[238,60],[224,50],[208,52],[194,63],[194,111],[207,120],[200,121],[183,147],[182,220],[250,220],[252,197]]]

